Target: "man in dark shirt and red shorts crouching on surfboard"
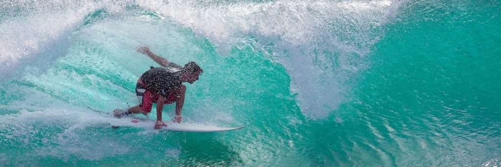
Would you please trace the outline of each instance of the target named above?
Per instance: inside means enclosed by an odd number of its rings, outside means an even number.
[[[149,56],[161,67],[151,67],[137,80],[136,95],[139,99],[139,105],[131,107],[127,111],[117,109],[114,111],[114,116],[120,118],[131,113],[146,115],[151,111],[152,104],[157,103],[157,121],[154,127],[160,129],[162,126],[167,126],[162,121],[163,105],[175,102],[176,115],[172,118],[172,121],[180,123],[186,92],[186,86],[182,83],[188,82],[192,84],[198,80],[198,76],[203,72],[202,69],[195,62],[189,62],[184,67],[168,62],[166,59],[155,55],[148,47],[140,47],[137,52]]]

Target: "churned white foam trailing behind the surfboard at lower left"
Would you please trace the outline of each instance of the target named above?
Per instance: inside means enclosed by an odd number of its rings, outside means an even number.
[[[21,110],[17,114],[0,117],[0,128],[3,129],[0,138],[22,141],[25,145],[36,144],[34,141],[41,140],[44,144],[35,152],[39,156],[68,159],[74,155],[96,160],[124,154],[131,149],[118,138],[80,134],[88,127],[106,128],[110,124],[133,125],[130,119],[116,119],[86,109]]]

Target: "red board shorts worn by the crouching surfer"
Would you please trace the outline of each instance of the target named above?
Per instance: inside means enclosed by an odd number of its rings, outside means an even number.
[[[141,83],[136,84],[136,96],[139,99],[139,106],[141,107],[141,110],[146,112],[151,111],[151,106],[153,105],[153,103],[156,103],[158,101],[158,98],[160,97],[160,95],[146,89],[146,86],[142,85]],[[164,103],[170,104],[175,102],[175,97],[175,93],[170,93],[167,98],[165,98]]]

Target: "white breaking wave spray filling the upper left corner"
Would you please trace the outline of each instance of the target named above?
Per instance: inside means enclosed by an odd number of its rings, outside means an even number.
[[[0,79],[26,64],[46,68],[65,54],[86,15],[101,8],[120,12],[124,6],[112,1],[0,2]]]

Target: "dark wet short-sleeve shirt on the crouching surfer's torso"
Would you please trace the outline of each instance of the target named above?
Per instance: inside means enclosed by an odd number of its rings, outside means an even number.
[[[166,98],[172,90],[182,86],[179,73],[166,67],[157,67],[144,72],[141,80],[149,91]]]

